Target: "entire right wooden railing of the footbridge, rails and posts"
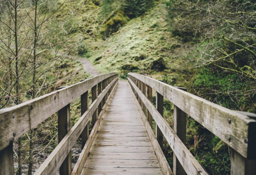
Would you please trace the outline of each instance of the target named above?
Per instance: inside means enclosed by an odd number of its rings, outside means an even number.
[[[256,172],[256,120],[209,102],[148,76],[128,73],[128,81],[149,124],[156,122],[156,137],[163,146],[163,136],[174,152],[175,175],[207,174],[185,146],[186,116],[190,116],[231,147],[231,174],[253,175]],[[156,90],[156,108],[152,104]],[[163,119],[163,98],[174,104],[173,128]],[[246,113],[244,113],[246,114]]]

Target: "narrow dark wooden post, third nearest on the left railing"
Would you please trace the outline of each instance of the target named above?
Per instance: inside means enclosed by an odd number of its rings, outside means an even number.
[[[88,109],[88,91],[81,95],[81,116]],[[89,137],[89,123],[84,127],[84,130],[81,133],[82,139],[82,149]]]

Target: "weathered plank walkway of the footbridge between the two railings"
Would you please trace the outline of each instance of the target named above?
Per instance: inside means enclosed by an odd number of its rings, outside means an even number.
[[[128,82],[119,81],[82,174],[162,174]]]

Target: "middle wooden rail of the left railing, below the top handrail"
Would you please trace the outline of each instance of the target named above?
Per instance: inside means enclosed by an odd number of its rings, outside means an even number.
[[[61,166],[68,152],[70,152],[73,144],[76,142],[77,138],[81,134],[84,126],[90,120],[90,117],[96,111],[99,103],[102,101],[105,94],[108,92],[108,89],[111,88],[112,85],[118,79],[116,78],[111,84],[109,84],[102,93],[97,97],[97,99],[90,105],[88,110],[81,116],[79,121],[76,122],[74,127],[67,133],[67,135],[61,140],[58,146],[52,151],[52,153],[48,156],[48,158],[44,161],[44,163],[39,167],[39,169],[35,172],[35,174],[41,175],[49,175],[55,174],[58,168]]]

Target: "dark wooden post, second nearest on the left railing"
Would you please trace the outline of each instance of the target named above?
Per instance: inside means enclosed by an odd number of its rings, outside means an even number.
[[[67,135],[70,131],[70,104],[63,107],[58,111],[58,142]],[[61,164],[60,175],[70,175],[72,172],[71,168],[71,151],[68,153],[66,159]]]

